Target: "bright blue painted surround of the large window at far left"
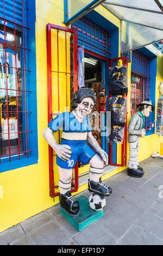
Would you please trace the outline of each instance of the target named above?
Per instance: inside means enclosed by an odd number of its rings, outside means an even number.
[[[38,162],[38,142],[37,142],[37,95],[36,95],[36,44],[35,44],[35,20],[36,20],[36,8],[35,1],[28,0],[28,11],[27,5],[24,4],[24,13],[26,13],[25,20],[26,25],[30,30],[26,30],[26,42],[27,48],[30,51],[26,51],[26,69],[31,72],[26,72],[26,89],[32,91],[32,93],[27,93],[27,111],[32,111],[28,113],[28,149],[33,150],[29,152],[29,158],[27,155],[21,155],[20,160],[18,156],[12,156],[11,162],[9,158],[1,158],[0,173],[6,172],[7,170],[17,169],[24,166],[29,166]],[[22,80],[23,81],[23,80]],[[24,84],[22,84],[24,87]],[[23,97],[23,93],[22,93]],[[22,109],[24,111],[24,109]],[[22,115],[22,119],[25,114]],[[24,120],[23,120],[24,122]],[[26,127],[23,127],[23,131]],[[27,149],[27,145],[26,148]]]

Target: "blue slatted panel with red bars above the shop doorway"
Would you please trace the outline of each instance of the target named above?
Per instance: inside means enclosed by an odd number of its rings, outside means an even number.
[[[87,17],[82,17],[71,26],[77,30],[78,45],[91,52],[110,58],[110,34],[108,31],[92,22]]]

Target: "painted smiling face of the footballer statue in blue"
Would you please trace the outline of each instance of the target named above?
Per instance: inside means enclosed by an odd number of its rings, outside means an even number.
[[[84,98],[82,102],[78,104],[76,109],[76,114],[79,118],[84,118],[86,115],[89,115],[94,107],[94,102],[90,97]]]

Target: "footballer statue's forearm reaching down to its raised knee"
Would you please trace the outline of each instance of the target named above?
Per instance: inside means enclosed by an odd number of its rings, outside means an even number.
[[[87,133],[87,142],[96,150],[99,155],[101,155],[105,165],[108,165],[108,154],[106,154],[106,152],[101,147],[99,147],[98,142],[92,135],[92,132]]]

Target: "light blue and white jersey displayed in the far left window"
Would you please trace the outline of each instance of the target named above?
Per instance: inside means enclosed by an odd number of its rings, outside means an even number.
[[[8,95],[9,96],[16,96],[16,72],[17,69],[20,68],[20,60],[18,60],[18,53],[16,53],[16,62],[15,62],[15,51],[7,48],[6,50],[6,60],[5,63],[5,50],[0,50],[0,97],[4,97],[7,95],[8,88]],[[6,79],[6,67],[7,65],[7,79]],[[13,67],[13,68],[12,68]],[[10,90],[11,89],[11,90]],[[13,90],[14,89],[14,90]]]

